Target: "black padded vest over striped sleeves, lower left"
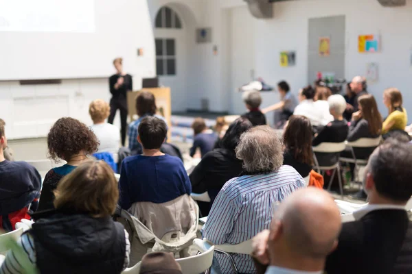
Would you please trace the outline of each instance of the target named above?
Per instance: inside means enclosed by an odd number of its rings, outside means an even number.
[[[38,219],[41,217],[41,219]],[[111,217],[49,210],[33,214],[36,264],[45,273],[121,273],[126,255],[124,227]]]

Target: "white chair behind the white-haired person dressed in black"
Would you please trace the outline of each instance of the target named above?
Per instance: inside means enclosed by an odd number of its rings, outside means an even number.
[[[312,147],[312,150],[313,152],[319,152],[319,153],[341,153],[342,151],[345,150],[345,148],[346,148],[345,142],[322,142],[320,145],[316,147]],[[342,177],[341,177],[341,167],[339,166],[339,157],[338,157],[338,161],[332,164],[332,166],[319,166],[319,163],[317,162],[316,154],[314,153],[314,163],[319,173],[321,171],[329,171],[333,169],[332,176],[330,177],[330,181],[328,184],[328,190],[330,190],[330,186],[332,186],[334,175],[336,171],[338,171],[339,189],[341,190],[341,195],[343,197],[343,186],[342,186]]]

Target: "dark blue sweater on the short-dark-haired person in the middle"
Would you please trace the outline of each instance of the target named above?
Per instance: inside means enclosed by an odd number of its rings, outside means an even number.
[[[123,160],[119,180],[119,205],[128,210],[133,203],[165,203],[192,192],[183,162],[174,156],[131,156]]]

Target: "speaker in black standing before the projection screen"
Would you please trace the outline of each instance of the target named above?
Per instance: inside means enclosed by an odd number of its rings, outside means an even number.
[[[131,75],[124,73],[122,63],[122,58],[116,58],[113,61],[113,65],[115,66],[117,73],[111,75],[111,77],[108,79],[112,99],[110,100],[110,115],[108,116],[107,122],[109,124],[113,124],[116,112],[117,110],[120,110],[122,145],[124,146],[124,142],[126,140],[128,113],[126,92],[133,90],[133,81]]]

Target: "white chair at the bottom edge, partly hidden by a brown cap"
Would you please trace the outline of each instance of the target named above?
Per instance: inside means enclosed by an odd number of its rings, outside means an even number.
[[[185,274],[209,273],[213,262],[214,245],[200,239],[194,239],[192,247],[197,249],[198,255],[176,260],[181,265],[182,272]],[[140,264],[141,262],[138,262],[135,266],[125,269],[122,274],[139,274]]]

